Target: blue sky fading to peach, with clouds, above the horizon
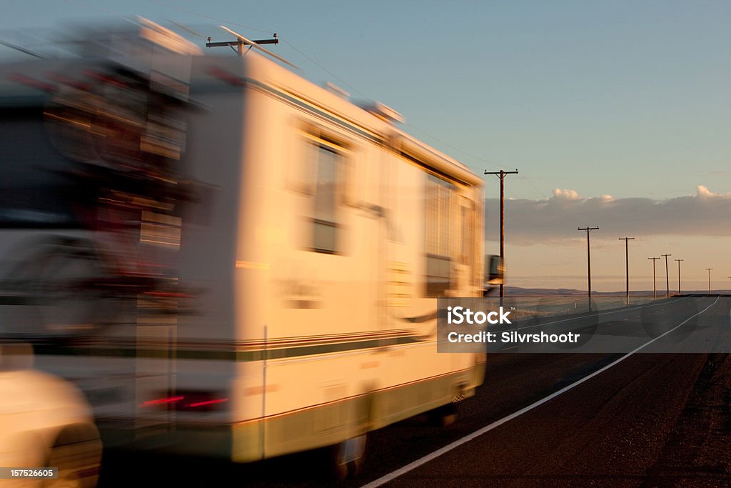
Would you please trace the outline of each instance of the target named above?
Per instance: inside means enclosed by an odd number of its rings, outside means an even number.
[[[0,40],[43,49],[67,21],[142,15],[213,40],[227,25],[477,173],[506,179],[507,284],[731,289],[729,1],[24,0]],[[204,40],[200,39],[200,42]],[[10,50],[0,48],[0,56]],[[486,252],[499,250],[499,181],[486,176]],[[658,288],[664,261],[656,262]],[[673,286],[673,280],[675,286]],[[662,287],[661,287],[662,281]]]

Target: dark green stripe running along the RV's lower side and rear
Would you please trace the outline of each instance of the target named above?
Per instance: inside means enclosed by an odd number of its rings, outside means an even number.
[[[44,356],[102,356],[121,358],[171,358],[197,359],[205,361],[262,361],[263,359],[289,359],[316,354],[342,353],[351,350],[374,349],[385,346],[421,342],[417,336],[395,337],[390,339],[369,339],[355,342],[333,342],[330,344],[299,346],[293,348],[259,350],[205,350],[205,349],[164,349],[164,348],[106,348],[77,347],[73,345],[35,345],[36,354]]]

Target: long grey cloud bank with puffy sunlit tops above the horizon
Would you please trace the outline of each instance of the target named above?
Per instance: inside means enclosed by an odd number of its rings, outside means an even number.
[[[731,236],[731,193],[698,186],[694,196],[654,200],[586,198],[572,189],[554,189],[545,200],[507,200],[510,241],[530,244],[575,239],[577,228],[599,226],[593,236]],[[488,240],[499,239],[499,200],[485,200]],[[607,238],[608,239],[608,238]]]

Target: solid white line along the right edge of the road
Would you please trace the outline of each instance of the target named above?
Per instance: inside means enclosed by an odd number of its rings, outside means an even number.
[[[716,297],[716,301],[714,301],[712,304],[708,305],[708,307],[705,307],[705,309],[702,309],[697,314],[691,315],[689,318],[686,318],[686,320],[683,320],[677,326],[673,327],[673,329],[670,329],[669,331],[665,332],[664,334],[661,334],[658,337],[655,337],[650,342],[646,342],[645,344],[641,345],[640,347],[636,348],[635,350],[632,350],[629,353],[626,353],[624,356],[617,359],[616,361],[613,361],[612,363],[607,364],[607,366],[603,367],[602,369],[598,369],[595,372],[591,373],[591,375],[587,375],[587,376],[581,378],[580,380],[576,381],[575,383],[571,383],[569,386],[564,386],[564,388],[561,388],[560,390],[553,392],[552,394],[548,395],[548,397],[539,399],[537,402],[531,403],[531,405],[521,408],[517,412],[511,413],[507,417],[503,417],[500,420],[496,420],[492,424],[482,427],[482,429],[478,429],[478,430],[472,432],[471,434],[464,436],[461,439],[455,440],[451,444],[447,444],[447,446],[444,446],[443,448],[433,451],[431,454],[427,454],[426,456],[424,456],[420,459],[417,459],[414,462],[410,462],[408,465],[406,465],[402,468],[398,468],[398,470],[392,471],[391,473],[388,473],[385,476],[382,476],[374,481],[371,481],[370,483],[363,485],[362,488],[380,487],[382,484],[386,484],[389,481],[391,481],[395,478],[398,478],[398,476],[401,476],[404,473],[408,473],[409,471],[411,471],[415,468],[418,468],[419,466],[421,466],[423,464],[426,464],[427,462],[431,461],[432,459],[436,459],[437,457],[442,456],[442,454],[447,454],[447,452],[452,451],[452,449],[458,448],[462,444],[468,443],[470,440],[478,438],[478,437],[480,437],[480,435],[485,434],[486,432],[490,432],[492,429],[495,429],[496,427],[500,427],[502,424],[505,424],[506,422],[511,421],[513,418],[519,417],[519,416],[523,415],[523,413],[529,412],[530,410],[533,410],[534,408],[539,407],[540,405],[543,405],[545,402],[548,402],[549,400],[558,397],[558,395],[566,393],[571,388],[574,388],[575,386],[579,386],[584,381],[591,380],[591,378],[594,378],[594,376],[599,375],[599,373],[605,372],[607,369],[610,369],[610,367],[616,366],[616,364],[621,363],[621,361],[624,361],[625,359],[629,358],[629,356],[632,356],[632,354],[637,353],[637,351],[645,348],[648,345],[651,345],[657,339],[660,339],[661,337],[663,337],[667,334],[670,334],[670,332],[674,331],[675,329],[678,329],[678,327],[685,325],[685,323],[687,323],[688,320],[690,320],[694,317],[697,317],[698,315],[702,314],[709,308],[713,307],[713,305],[715,305],[716,302],[719,301],[719,299],[720,299],[720,297]]]

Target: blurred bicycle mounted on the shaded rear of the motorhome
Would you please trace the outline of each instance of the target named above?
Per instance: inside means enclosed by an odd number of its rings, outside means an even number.
[[[175,261],[182,209],[202,184],[183,179],[185,103],[138,73],[107,67],[61,84],[47,132],[76,164],[65,170],[83,236],[49,235],[11,252],[0,279],[4,330],[35,339],[98,335],[135,315],[192,312]]]

